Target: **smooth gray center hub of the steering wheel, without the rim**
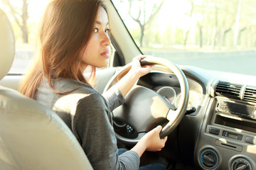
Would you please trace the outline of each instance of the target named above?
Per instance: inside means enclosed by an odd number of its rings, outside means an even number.
[[[114,118],[129,123],[137,132],[148,132],[165,120],[171,107],[162,96],[144,86],[134,86],[125,101],[114,110]]]

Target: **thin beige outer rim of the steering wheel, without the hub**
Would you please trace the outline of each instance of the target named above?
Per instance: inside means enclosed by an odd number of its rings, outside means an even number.
[[[183,118],[183,115],[186,112],[186,108],[188,106],[188,92],[189,92],[189,87],[188,87],[188,81],[186,79],[185,74],[182,72],[182,70],[176,66],[173,62],[170,62],[169,60],[165,60],[159,57],[146,57],[145,59],[141,60],[141,64],[159,64],[161,66],[166,67],[167,69],[170,69],[176,77],[178,78],[178,82],[181,86],[181,101],[178,104],[178,108],[176,111],[171,110],[169,108],[168,113],[166,114],[166,120],[169,122],[163,127],[160,133],[160,137],[165,137],[169,135],[175,128],[176,126],[181,122],[181,119]],[[124,77],[127,72],[129,72],[129,69],[131,69],[132,63],[127,64],[126,66],[122,67],[122,69],[119,70],[114,76],[108,81],[107,85],[105,86],[105,90],[107,91],[110,89],[111,86],[117,83],[122,77]],[[145,94],[145,93],[144,93]],[[127,94],[128,95],[128,94]],[[136,94],[135,94],[136,95]],[[125,97],[127,100],[127,96]],[[165,101],[165,100],[164,100]],[[127,101],[126,101],[127,102]],[[129,139],[127,137],[123,137],[117,132],[115,132],[117,140],[120,142],[123,142],[128,145],[134,145],[136,144],[144,134],[145,132],[139,133],[138,137],[134,139]]]

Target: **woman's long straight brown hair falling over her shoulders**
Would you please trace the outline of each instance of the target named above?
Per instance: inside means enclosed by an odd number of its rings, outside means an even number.
[[[100,6],[105,8],[100,0],[49,2],[39,28],[39,55],[21,83],[21,94],[35,98],[38,87],[46,80],[55,93],[65,91],[56,91],[53,79],[70,78],[89,84],[80,70],[81,52],[90,39]],[[94,81],[95,67],[91,70],[89,80]]]

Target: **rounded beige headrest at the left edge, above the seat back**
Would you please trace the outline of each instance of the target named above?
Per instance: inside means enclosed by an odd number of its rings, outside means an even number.
[[[0,9],[0,79],[8,74],[15,54],[15,38],[11,23]]]

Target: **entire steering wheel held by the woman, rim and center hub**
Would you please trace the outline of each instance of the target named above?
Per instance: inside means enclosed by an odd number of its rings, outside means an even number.
[[[156,91],[144,86],[134,85],[125,96],[125,103],[113,111],[114,120],[126,123],[129,125],[129,128],[137,132],[137,136],[134,138],[119,135],[119,133],[115,132],[117,140],[127,145],[136,144],[146,132],[155,128],[163,120],[167,123],[161,130],[160,137],[169,135],[181,122],[188,106],[188,81],[176,64],[159,57],[147,57],[141,60],[141,64],[159,64],[174,72],[181,87],[181,101],[178,104],[178,108],[174,111],[171,104],[166,101],[166,98],[157,94]],[[129,63],[114,74],[110,81],[108,81],[104,91],[107,91],[117,81],[122,79],[131,67],[132,63]]]

